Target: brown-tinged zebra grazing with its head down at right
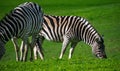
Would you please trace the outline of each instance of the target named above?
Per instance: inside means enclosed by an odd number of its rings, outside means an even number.
[[[71,43],[71,48],[68,58],[71,59],[74,48],[80,41],[84,41],[90,45],[96,57],[107,58],[102,36],[82,17],[44,15],[43,28],[39,34],[42,37],[41,44],[44,38],[50,41],[62,42],[59,59],[63,57],[69,43]],[[34,56],[37,56],[38,48],[36,48],[37,47],[34,48]],[[37,59],[37,57],[35,57],[35,59]]]

